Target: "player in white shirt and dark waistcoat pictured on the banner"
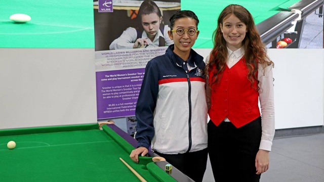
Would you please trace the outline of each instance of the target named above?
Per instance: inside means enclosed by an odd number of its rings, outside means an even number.
[[[164,47],[173,43],[168,36],[170,28],[163,25],[160,9],[152,0],[141,4],[137,18],[139,28],[127,28],[109,45],[110,50]]]

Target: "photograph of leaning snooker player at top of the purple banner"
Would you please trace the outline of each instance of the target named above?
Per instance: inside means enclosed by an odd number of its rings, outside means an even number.
[[[180,0],[94,1],[96,51],[165,47]]]

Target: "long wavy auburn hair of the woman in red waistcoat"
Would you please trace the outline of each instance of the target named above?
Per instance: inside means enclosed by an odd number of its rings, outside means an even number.
[[[235,15],[241,22],[247,25],[248,32],[242,41],[242,45],[245,50],[244,58],[248,67],[248,79],[253,87],[255,81],[257,81],[257,85],[259,83],[257,75],[258,64],[262,65],[264,75],[265,67],[270,65],[273,67],[274,63],[266,54],[267,50],[261,41],[251,13],[240,5],[229,5],[220,13],[217,28],[213,33],[214,48],[210,54],[210,61],[205,68],[205,72],[206,75],[209,75],[209,72],[212,73],[212,81],[210,82],[210,86],[212,86],[212,84],[219,82],[222,72],[225,70],[228,51],[220,26],[223,25],[223,20],[230,15]],[[212,69],[213,67],[216,69]],[[255,89],[259,89],[259,87]]]

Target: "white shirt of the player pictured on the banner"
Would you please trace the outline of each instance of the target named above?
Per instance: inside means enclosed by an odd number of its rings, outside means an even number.
[[[164,32],[162,33],[161,30],[158,30],[156,33],[153,41],[151,41],[145,31],[142,32],[142,38],[146,38],[148,40],[148,46],[146,48],[155,48],[158,47],[158,38],[160,36],[164,37],[166,40],[166,44],[169,46],[173,44],[173,40],[170,39],[168,35],[168,30],[170,27],[165,25]],[[129,27],[123,31],[123,33],[116,38],[114,41],[111,42],[109,45],[109,50],[120,50],[120,49],[133,49],[134,42],[137,38],[137,31],[133,27]]]

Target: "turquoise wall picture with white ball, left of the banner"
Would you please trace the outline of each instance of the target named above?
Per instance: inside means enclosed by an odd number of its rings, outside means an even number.
[[[89,1],[2,1],[0,48],[94,48]]]

